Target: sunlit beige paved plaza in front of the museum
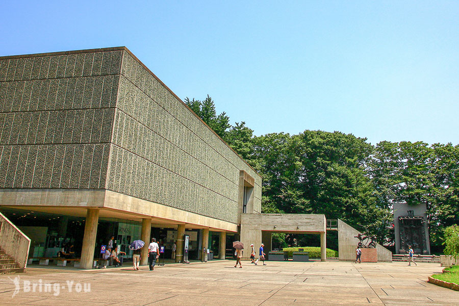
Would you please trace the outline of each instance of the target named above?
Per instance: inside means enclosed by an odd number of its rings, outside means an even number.
[[[234,268],[233,261],[173,264],[156,267],[153,272],[147,267],[139,271],[130,267],[85,271],[32,268],[23,274],[0,275],[0,304],[459,305],[459,292],[426,282],[429,275],[441,272],[438,264],[243,264],[242,269]],[[15,291],[17,276],[20,289]],[[51,284],[48,292],[44,292],[46,283]],[[84,292],[88,284],[90,292]]]

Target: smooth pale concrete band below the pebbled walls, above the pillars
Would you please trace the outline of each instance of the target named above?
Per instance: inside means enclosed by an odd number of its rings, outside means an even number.
[[[237,224],[150,202],[109,190],[2,189],[0,206],[22,210],[86,217],[88,208],[99,209],[99,218],[142,221],[151,218],[155,227],[209,228],[237,232]]]

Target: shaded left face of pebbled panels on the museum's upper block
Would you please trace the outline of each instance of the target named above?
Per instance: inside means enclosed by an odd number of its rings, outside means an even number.
[[[106,188],[121,56],[0,59],[0,188]]]

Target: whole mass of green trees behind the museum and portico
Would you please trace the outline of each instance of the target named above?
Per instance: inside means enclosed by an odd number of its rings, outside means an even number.
[[[459,223],[459,146],[381,141],[306,130],[253,136],[245,122],[217,116],[208,95],[185,103],[263,179],[262,212],[320,213],[393,239],[392,203],[425,204],[431,243]]]

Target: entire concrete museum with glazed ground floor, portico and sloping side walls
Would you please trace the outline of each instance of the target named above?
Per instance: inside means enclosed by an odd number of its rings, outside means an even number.
[[[261,185],[125,47],[0,57],[0,252],[20,268],[64,245],[91,268],[112,236],[128,258],[134,240],[157,238],[165,257],[176,241],[183,262],[209,249],[224,259],[237,239],[268,253],[272,233],[317,234],[325,261],[327,230],[353,260],[353,228],[261,214]],[[390,251],[378,245],[377,258]]]

